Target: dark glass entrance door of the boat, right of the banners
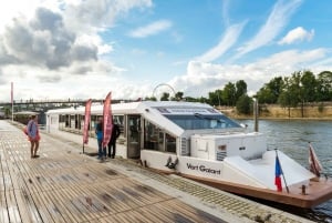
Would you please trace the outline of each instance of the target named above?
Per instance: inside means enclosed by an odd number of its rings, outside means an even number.
[[[141,115],[127,116],[127,158],[139,159],[141,155]]]

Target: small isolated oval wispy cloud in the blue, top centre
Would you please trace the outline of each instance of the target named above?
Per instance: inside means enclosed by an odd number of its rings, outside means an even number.
[[[147,24],[145,27],[137,28],[133,30],[129,36],[133,38],[146,38],[148,36],[157,34],[162,31],[165,31],[172,27],[172,22],[168,20],[159,20]]]

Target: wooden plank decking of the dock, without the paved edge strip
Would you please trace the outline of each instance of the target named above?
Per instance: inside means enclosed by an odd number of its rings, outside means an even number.
[[[31,159],[23,132],[1,121],[1,223],[225,222],[80,154],[70,143],[42,135],[39,155]]]

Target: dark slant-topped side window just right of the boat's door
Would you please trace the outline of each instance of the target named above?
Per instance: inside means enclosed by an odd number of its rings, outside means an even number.
[[[176,138],[144,120],[144,149],[175,153]]]

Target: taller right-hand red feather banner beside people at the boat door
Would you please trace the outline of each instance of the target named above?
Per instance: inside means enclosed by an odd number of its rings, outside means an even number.
[[[104,119],[103,148],[106,148],[112,135],[112,126],[113,126],[112,112],[111,112],[111,92],[106,95],[104,101],[103,119]]]

